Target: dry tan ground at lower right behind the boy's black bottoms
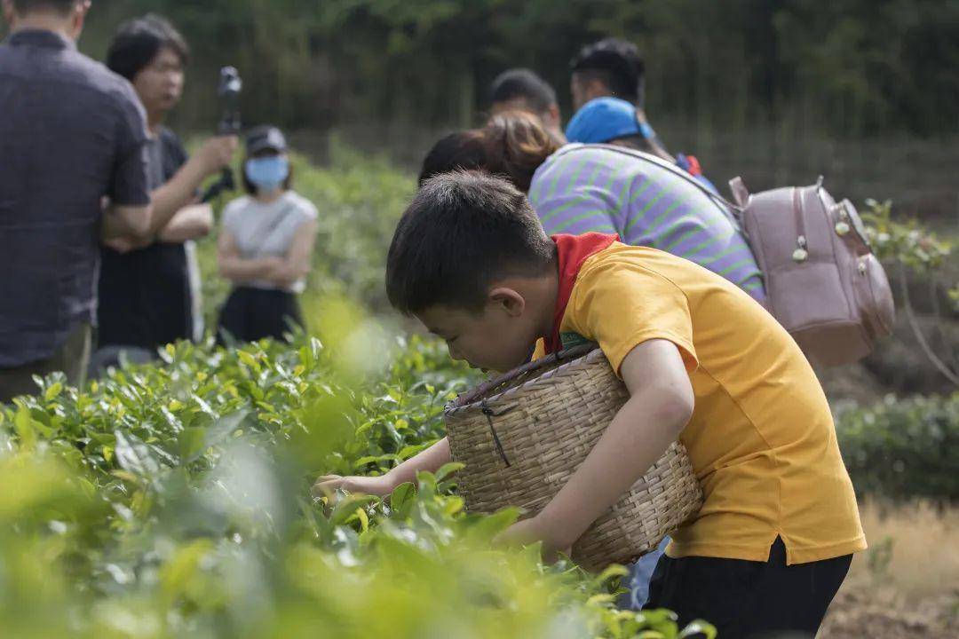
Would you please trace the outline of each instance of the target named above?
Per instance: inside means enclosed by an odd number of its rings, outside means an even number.
[[[959,638],[959,509],[867,503],[855,557],[820,639]]]

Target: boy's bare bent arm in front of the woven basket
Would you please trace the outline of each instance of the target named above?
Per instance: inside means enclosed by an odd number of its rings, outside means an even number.
[[[679,349],[664,339],[643,342],[623,359],[620,375],[630,399],[546,508],[501,540],[542,540],[548,558],[570,548],[676,441],[694,404]]]

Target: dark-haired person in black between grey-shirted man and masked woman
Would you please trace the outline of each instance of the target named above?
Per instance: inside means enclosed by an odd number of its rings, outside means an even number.
[[[107,242],[100,275],[101,351],[94,369],[115,361],[120,350],[155,355],[157,347],[199,333],[193,240],[210,232],[213,214],[209,205],[197,203],[197,192],[205,177],[229,163],[237,140],[213,138],[190,158],[175,133],[163,126],[182,95],[188,57],[183,37],[155,15],[122,25],[107,54],[107,66],[133,84],[147,111],[153,207],[175,215],[148,241]]]

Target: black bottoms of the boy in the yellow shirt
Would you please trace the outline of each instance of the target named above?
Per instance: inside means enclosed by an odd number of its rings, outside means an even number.
[[[722,639],[812,639],[852,560],[846,555],[787,566],[778,537],[768,561],[664,556],[644,607],[673,610],[680,628],[708,621]]]

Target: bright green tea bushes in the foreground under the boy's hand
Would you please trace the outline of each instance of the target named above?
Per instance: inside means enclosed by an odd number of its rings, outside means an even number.
[[[4,635],[690,635],[617,610],[618,567],[494,548],[517,513],[464,513],[456,466],[388,500],[311,498],[318,472],[381,472],[433,443],[471,381],[434,343],[385,341],[375,372],[348,344],[179,344],[0,409]]]

